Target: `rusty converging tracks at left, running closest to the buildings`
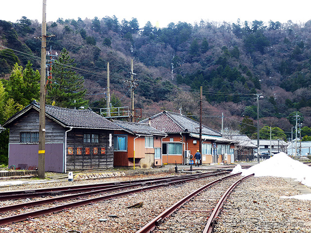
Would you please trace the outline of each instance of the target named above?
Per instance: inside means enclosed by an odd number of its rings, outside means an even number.
[[[104,183],[102,186],[101,184],[96,185],[77,185],[77,186],[68,186],[68,187],[56,187],[56,188],[49,188],[49,189],[37,189],[37,190],[21,190],[21,191],[13,191],[13,192],[3,192],[1,193],[2,200],[16,200],[21,198],[30,198],[34,197],[42,197],[42,194],[55,194],[61,195],[65,191],[74,191],[75,194],[70,194],[66,196],[54,197],[54,198],[44,198],[42,200],[35,200],[35,201],[28,201],[22,202],[18,204],[2,206],[0,207],[0,213],[2,217],[0,218],[0,225],[9,224],[12,222],[18,222],[23,220],[28,220],[31,218],[35,218],[38,216],[43,216],[51,213],[57,213],[61,211],[66,211],[70,208],[84,206],[88,204],[93,204],[98,201],[109,200],[115,197],[121,197],[133,193],[138,193],[146,190],[151,190],[159,187],[164,187],[167,185],[172,185],[176,183],[183,183],[183,182],[190,182],[197,179],[203,179],[211,176],[219,176],[228,173],[229,171],[217,171],[217,172],[207,172],[207,173],[200,173],[194,175],[184,175],[184,176],[174,176],[174,177],[165,177],[165,178],[153,178],[153,179],[146,179],[146,180],[139,180],[139,181],[131,181],[127,182],[119,182],[119,183]],[[94,186],[94,187],[92,187]],[[103,187],[104,186],[104,187]],[[131,189],[136,187],[135,189]],[[138,187],[138,188],[137,188]],[[62,190],[60,190],[62,189]],[[89,189],[97,189],[92,191],[86,191]],[[120,191],[125,190],[125,191]],[[78,193],[77,193],[78,192]],[[104,193],[108,193],[103,195]],[[91,197],[94,195],[98,195],[98,197]],[[18,198],[17,198],[18,196]],[[10,198],[11,197],[11,198]],[[85,199],[82,199],[84,197]],[[69,201],[73,200],[73,202],[69,203],[60,203],[61,201]],[[41,208],[41,209],[32,209],[27,210],[28,208],[33,208],[41,205],[49,204],[52,205],[48,208]],[[10,212],[14,210],[22,209],[25,212],[18,215],[10,215]],[[4,217],[3,217],[4,216]]]

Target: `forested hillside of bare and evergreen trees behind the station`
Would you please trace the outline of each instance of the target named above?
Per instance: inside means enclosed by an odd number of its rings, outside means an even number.
[[[291,132],[293,117],[288,116],[295,111],[303,115],[304,126],[311,126],[311,21],[201,21],[155,28],[150,22],[139,25],[136,18],[59,18],[48,23],[47,33],[53,35],[47,46],[53,54],[66,48],[74,59],[91,107],[105,107],[107,62],[112,104],[130,105],[124,81],[134,59],[135,105],[144,118],[181,109],[198,119],[203,86],[203,123],[214,129],[221,128],[222,113],[225,128],[241,130],[242,120],[252,124],[256,93],[264,97],[261,126]],[[0,78],[8,80],[14,65],[25,67],[28,60],[39,69],[41,42],[35,37],[40,34],[37,20],[0,20]]]

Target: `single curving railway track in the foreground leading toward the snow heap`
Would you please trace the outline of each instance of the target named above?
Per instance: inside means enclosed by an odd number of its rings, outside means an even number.
[[[238,183],[254,175],[240,179],[237,177],[239,174],[228,175],[195,190],[156,216],[137,233],[211,233],[226,197]]]

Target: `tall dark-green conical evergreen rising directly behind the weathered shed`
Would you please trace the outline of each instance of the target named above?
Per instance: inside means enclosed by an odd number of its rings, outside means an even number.
[[[71,67],[75,67],[74,59],[64,48],[53,66],[52,83],[48,86],[47,103],[65,108],[79,108],[88,103],[85,100],[86,89],[84,78]]]

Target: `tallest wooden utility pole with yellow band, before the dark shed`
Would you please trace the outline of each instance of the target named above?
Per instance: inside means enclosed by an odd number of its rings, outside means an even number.
[[[45,179],[45,77],[46,77],[46,10],[47,0],[43,0],[42,34],[41,34],[41,70],[40,70],[40,111],[39,111],[39,151],[38,177]],[[65,149],[66,150],[66,149]]]

